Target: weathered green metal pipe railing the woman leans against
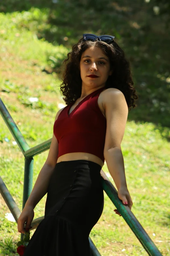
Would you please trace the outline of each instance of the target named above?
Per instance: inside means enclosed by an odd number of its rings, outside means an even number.
[[[7,111],[3,101],[0,98],[0,113],[9,128],[10,132],[12,133],[15,141],[17,142],[18,146],[20,147],[24,158],[24,182],[23,182],[23,200],[22,200],[22,210],[25,206],[25,203],[31,194],[32,185],[33,185],[33,164],[34,159],[33,157],[48,150],[50,148],[51,140],[45,141],[35,147],[29,148],[28,144],[26,143],[25,139],[23,138],[20,130],[18,129],[17,125],[15,124],[14,120],[12,119],[11,115]],[[143,229],[139,221],[136,219],[135,215],[129,209],[128,206],[124,205],[122,201],[118,197],[118,192],[107,178],[106,174],[101,169],[101,176],[102,176],[102,185],[103,189],[106,192],[107,196],[110,198],[112,203],[118,209],[121,216],[124,218],[126,223],[129,225],[131,230],[134,232],[135,236],[138,238],[142,246],[148,252],[150,256],[162,256],[161,252],[158,250],[156,245],[153,243],[147,232]],[[18,218],[21,214],[18,206],[16,205],[13,197],[11,196],[10,192],[8,191],[4,181],[0,177],[0,193],[3,196],[9,210],[11,211],[12,215],[14,216],[16,222],[18,222]],[[44,216],[36,218],[32,221],[31,226],[34,230],[37,228],[38,224],[44,219]],[[23,234],[21,233],[21,239],[23,239]],[[97,248],[92,242],[92,239],[89,237],[90,247],[92,250],[93,256],[101,256]]]

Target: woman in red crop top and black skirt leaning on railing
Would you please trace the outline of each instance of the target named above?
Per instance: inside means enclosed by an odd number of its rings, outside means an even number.
[[[137,99],[129,62],[106,35],[83,34],[67,56],[61,84],[67,106],[56,114],[49,155],[18,219],[18,231],[24,233],[25,222],[29,230],[47,193],[45,218],[24,256],[92,255],[88,237],[104,207],[105,160],[119,198],[130,209],[133,204],[120,146],[128,107]]]

